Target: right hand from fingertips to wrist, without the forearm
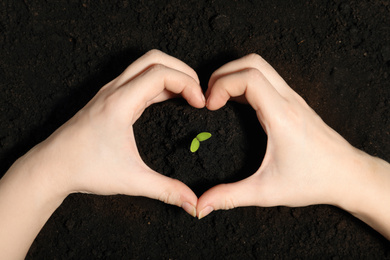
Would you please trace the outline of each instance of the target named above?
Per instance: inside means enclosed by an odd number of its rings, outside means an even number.
[[[353,186],[348,174],[363,168],[365,154],[327,126],[260,56],[251,54],[215,71],[206,98],[210,110],[230,98],[247,101],[268,143],[252,176],[213,187],[199,198],[199,218],[241,206],[337,205],[341,197],[348,199]]]

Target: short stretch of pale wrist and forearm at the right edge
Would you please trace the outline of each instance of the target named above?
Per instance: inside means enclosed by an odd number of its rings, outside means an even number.
[[[369,155],[365,167],[352,173],[351,196],[341,207],[390,240],[390,164]],[[348,185],[346,186],[348,187]]]

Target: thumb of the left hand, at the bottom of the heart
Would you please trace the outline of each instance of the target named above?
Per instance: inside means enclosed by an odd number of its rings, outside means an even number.
[[[183,182],[161,175],[153,170],[143,173],[138,180],[137,195],[157,199],[183,208],[196,217],[198,197]]]

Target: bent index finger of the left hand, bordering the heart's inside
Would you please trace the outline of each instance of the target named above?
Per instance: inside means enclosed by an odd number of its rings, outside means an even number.
[[[193,107],[205,105],[202,89],[192,77],[164,65],[153,65],[125,84],[117,95],[121,110],[133,111],[138,118],[149,104],[171,98],[170,93],[180,94]]]

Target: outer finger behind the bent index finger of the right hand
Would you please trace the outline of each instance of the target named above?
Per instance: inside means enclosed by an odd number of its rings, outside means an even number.
[[[268,62],[266,62],[261,56],[257,54],[246,55],[220,67],[211,75],[209,80],[209,89],[220,77],[248,68],[255,68],[259,70],[282,96],[287,97],[291,94],[292,89],[287,85],[283,78]]]

